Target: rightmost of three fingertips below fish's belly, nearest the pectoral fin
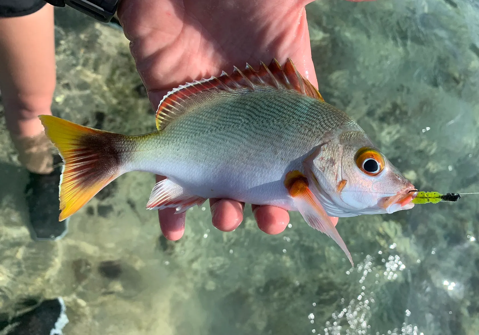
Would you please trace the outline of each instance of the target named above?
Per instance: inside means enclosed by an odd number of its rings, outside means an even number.
[[[285,230],[289,223],[289,214],[282,208],[251,205],[251,209],[256,223],[258,223],[258,228],[266,234],[279,234]]]

